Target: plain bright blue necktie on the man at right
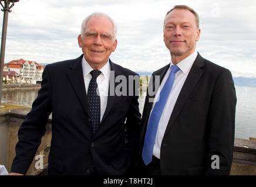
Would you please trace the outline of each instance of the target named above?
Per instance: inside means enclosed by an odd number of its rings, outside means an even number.
[[[145,165],[148,165],[152,160],[154,141],[156,139],[157,127],[166,105],[167,98],[173,87],[176,72],[180,70],[177,65],[171,65],[171,72],[166,80],[159,95],[159,101],[156,102],[151,112],[149,122],[147,123],[147,130],[144,139],[144,146],[142,150],[142,158]]]

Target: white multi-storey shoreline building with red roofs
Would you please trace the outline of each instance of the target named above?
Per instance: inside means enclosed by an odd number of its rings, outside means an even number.
[[[40,65],[35,61],[12,60],[4,64],[4,71],[15,71],[19,74],[19,83],[39,84],[42,81],[45,65]]]

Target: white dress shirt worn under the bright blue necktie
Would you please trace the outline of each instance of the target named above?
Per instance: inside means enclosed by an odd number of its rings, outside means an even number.
[[[184,60],[180,61],[180,63],[177,64],[178,70],[175,74],[175,80],[173,83],[173,88],[171,88],[171,92],[169,94],[169,97],[166,101],[166,106],[164,106],[163,113],[160,118],[159,126],[157,128],[157,133],[156,133],[156,140],[154,142],[154,150],[153,150],[153,155],[157,158],[160,158],[160,150],[161,150],[161,142],[163,140],[164,133],[166,131],[167,124],[169,122],[169,119],[171,117],[171,113],[173,112],[174,105],[177,101],[178,95],[180,94],[181,88],[183,87],[184,82],[186,81],[188,72],[190,72],[190,69],[196,60],[197,57],[197,50],[194,51],[190,56],[185,58]],[[174,65],[171,61],[170,66]],[[166,82],[167,78],[169,77],[170,74],[170,68],[166,72],[166,75],[164,75],[163,81],[160,84],[159,90],[156,93],[156,97],[154,98],[154,104],[156,103],[157,99],[159,98],[159,94],[161,89],[164,86],[164,83]],[[151,109],[151,112],[153,110],[153,107]],[[150,112],[150,115],[151,115]]]

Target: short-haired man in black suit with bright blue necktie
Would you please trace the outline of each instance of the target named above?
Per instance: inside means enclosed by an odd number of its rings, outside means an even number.
[[[142,117],[142,165],[149,175],[228,175],[236,96],[229,70],[197,53],[197,13],[174,6],[164,20],[171,63],[153,72]],[[153,87],[151,87],[153,86]],[[149,91],[156,89],[156,95]],[[151,102],[154,101],[154,102]]]

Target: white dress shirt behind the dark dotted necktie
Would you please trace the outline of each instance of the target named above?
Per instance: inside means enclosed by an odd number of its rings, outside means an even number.
[[[87,63],[85,57],[82,58],[82,68],[83,68],[83,79],[85,80],[85,90],[87,94],[87,90],[89,87],[90,79],[92,79],[92,75],[90,75],[90,71],[93,70],[92,67]],[[100,69],[101,74],[97,77],[97,85],[100,93],[100,122],[102,121],[102,117],[105,113],[107,107],[107,95],[109,92],[109,77],[110,77],[110,64],[109,60],[107,63]]]

